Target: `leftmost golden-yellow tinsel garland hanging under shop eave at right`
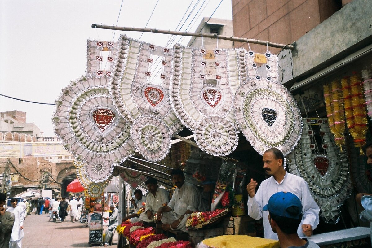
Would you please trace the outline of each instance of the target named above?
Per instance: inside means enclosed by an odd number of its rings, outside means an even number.
[[[342,146],[345,145],[345,110],[340,81],[333,81],[331,86],[324,85],[324,99],[331,133],[342,152]]]

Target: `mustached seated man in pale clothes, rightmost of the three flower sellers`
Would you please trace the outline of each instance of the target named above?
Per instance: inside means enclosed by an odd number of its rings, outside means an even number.
[[[177,189],[174,190],[169,205],[160,208],[157,216],[161,218],[165,231],[172,229],[188,232],[186,230],[187,218],[193,212],[203,211],[200,192],[195,185],[185,182],[182,170],[172,170],[171,176]]]

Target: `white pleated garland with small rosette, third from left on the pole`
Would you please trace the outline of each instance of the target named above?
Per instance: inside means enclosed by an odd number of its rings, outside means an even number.
[[[230,154],[238,144],[232,102],[245,80],[244,49],[209,51],[177,44],[173,57],[174,112],[205,153]]]

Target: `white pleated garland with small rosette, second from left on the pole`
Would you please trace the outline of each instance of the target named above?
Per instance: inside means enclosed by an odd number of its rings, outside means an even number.
[[[169,102],[173,49],[125,35],[119,43],[111,81],[113,101],[119,113],[132,123],[136,151],[150,161],[161,160],[169,153],[172,135],[182,129]],[[162,70],[157,75],[151,68],[159,59]]]

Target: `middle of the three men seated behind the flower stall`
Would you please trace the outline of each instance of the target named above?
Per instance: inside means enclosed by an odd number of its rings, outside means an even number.
[[[155,213],[164,205],[169,203],[169,192],[158,187],[158,181],[149,177],[145,182],[148,194],[146,198],[145,211],[141,213],[140,219],[145,222],[154,222]]]

